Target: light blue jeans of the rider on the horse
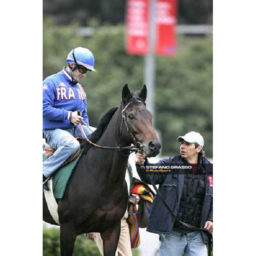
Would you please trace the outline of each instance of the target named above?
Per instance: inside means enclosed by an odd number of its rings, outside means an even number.
[[[90,131],[87,126],[82,125],[82,127],[87,136],[96,129],[90,126],[92,130]],[[45,177],[50,177],[69,157],[79,150],[80,144],[75,137],[84,138],[84,135],[81,132],[80,126],[77,125],[74,128],[66,130],[45,130],[44,136],[47,144],[49,144],[51,148],[57,149],[54,154],[43,163],[43,174]]]

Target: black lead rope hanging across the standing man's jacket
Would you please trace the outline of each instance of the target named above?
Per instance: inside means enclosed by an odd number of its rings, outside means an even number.
[[[145,169],[145,166],[141,165],[140,169]],[[172,214],[172,216],[183,226],[188,227],[189,229],[195,230],[195,231],[204,231],[206,232],[207,236],[208,236],[208,256],[211,256],[211,252],[212,252],[212,246],[213,246],[213,239],[212,239],[212,234],[210,234],[209,232],[207,232],[206,230],[204,230],[203,228],[199,228],[199,227],[195,227],[193,225],[187,224],[183,221],[180,221],[172,212],[171,208],[169,207],[169,205],[166,203],[165,199],[163,198],[163,195],[160,193],[160,191],[157,189],[156,184],[154,183],[154,181],[152,180],[152,178],[150,177],[150,175],[147,175],[148,180],[150,181],[150,183],[152,184],[152,186],[154,187],[155,191],[157,192],[158,197],[160,198],[160,200],[162,201],[162,203],[165,205],[165,207],[168,209],[168,211]]]

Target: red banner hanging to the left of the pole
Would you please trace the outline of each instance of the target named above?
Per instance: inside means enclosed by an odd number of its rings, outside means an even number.
[[[126,16],[126,49],[131,54],[149,50],[149,0],[128,0]]]

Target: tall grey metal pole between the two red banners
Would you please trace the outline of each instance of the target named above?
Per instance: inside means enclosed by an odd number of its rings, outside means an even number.
[[[148,96],[146,100],[147,108],[153,115],[153,126],[155,123],[154,118],[154,81],[155,81],[155,10],[156,0],[149,0],[149,52],[144,58],[144,81],[148,89]]]

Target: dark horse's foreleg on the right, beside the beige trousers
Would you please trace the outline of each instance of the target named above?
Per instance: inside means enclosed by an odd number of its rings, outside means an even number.
[[[121,222],[119,221],[115,227],[101,233],[103,240],[104,256],[115,256],[117,244],[119,241]]]

